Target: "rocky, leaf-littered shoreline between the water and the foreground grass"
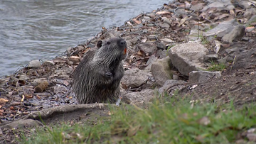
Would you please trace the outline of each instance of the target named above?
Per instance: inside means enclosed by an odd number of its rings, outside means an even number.
[[[29,62],[0,79],[0,135],[11,138],[8,128],[12,126],[6,123],[38,119],[37,111],[47,113],[46,109],[73,104],[79,107],[70,91],[75,67],[98,40],[119,36],[128,45],[122,102],[145,104],[155,92],[171,96],[176,89],[184,95],[196,94],[195,100],[225,102],[233,96],[238,105],[255,101],[255,6],[252,0],[174,1],[151,13],[141,13],[123,26],[102,28],[87,43],[68,48],[53,60]],[[210,72],[213,64],[225,68]],[[78,109],[104,107],[81,106]]]

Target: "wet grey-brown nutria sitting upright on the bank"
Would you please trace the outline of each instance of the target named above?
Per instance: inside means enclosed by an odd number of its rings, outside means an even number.
[[[127,43],[122,38],[99,40],[96,49],[87,51],[73,73],[72,87],[78,103],[117,101],[126,56]]]

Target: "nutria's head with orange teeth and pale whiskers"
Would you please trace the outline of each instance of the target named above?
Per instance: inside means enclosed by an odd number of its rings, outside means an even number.
[[[97,57],[97,60],[102,60],[102,62],[121,62],[127,57],[127,43],[122,38],[99,40],[97,48],[98,50],[95,53],[95,57]]]

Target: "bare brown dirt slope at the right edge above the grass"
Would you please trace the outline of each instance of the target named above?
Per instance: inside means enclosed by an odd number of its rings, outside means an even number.
[[[195,84],[181,89],[181,95],[192,95],[193,99],[203,101],[219,101],[226,103],[233,100],[236,106],[250,104],[256,101],[256,38],[252,42],[233,43],[235,60],[223,72],[220,79],[210,79],[208,82]],[[225,55],[225,52],[222,52]]]

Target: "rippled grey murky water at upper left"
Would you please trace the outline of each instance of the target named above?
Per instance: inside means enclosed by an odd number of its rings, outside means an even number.
[[[169,1],[0,0],[0,76],[31,60],[52,59],[102,26],[121,26]]]

